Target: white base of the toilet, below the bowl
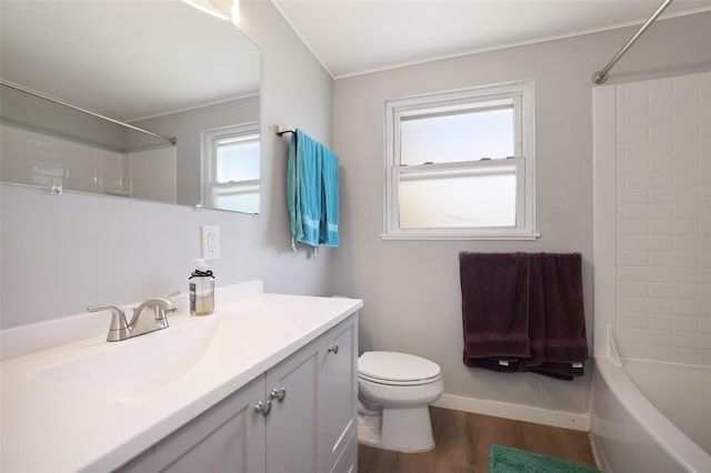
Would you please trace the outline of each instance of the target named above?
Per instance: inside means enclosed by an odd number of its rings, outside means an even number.
[[[383,450],[414,453],[434,449],[430,410],[383,409],[380,415],[359,414],[358,442]]]

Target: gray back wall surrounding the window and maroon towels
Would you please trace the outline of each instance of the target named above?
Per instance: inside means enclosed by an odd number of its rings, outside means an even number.
[[[655,23],[610,82],[709,69],[710,16]],[[592,100],[590,77],[635,29],[472,54],[336,81],[333,145],[342,177],[343,249],[337,292],[364,299],[362,350],[397,350],[442,366],[447,394],[554,411],[589,410],[589,376],[561,382],[500,374],[462,363],[460,251],[578,251],[592,335]],[[534,80],[537,227],[534,242],[383,241],[384,101],[479,84]],[[592,348],[592,343],[590,343]],[[588,366],[590,373],[590,366]]]

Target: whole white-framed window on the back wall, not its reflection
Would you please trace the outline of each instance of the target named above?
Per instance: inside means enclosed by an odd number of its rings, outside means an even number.
[[[532,240],[532,81],[385,103],[383,239]]]

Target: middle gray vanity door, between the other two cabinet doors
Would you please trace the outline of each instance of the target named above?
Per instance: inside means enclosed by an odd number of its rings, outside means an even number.
[[[267,395],[271,397],[267,416],[268,472],[326,471],[319,429],[323,392],[319,366],[319,344],[311,343],[267,372]]]

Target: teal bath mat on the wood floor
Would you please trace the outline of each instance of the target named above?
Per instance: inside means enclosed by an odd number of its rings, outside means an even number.
[[[491,445],[489,471],[490,473],[600,473],[592,466],[502,445]]]

